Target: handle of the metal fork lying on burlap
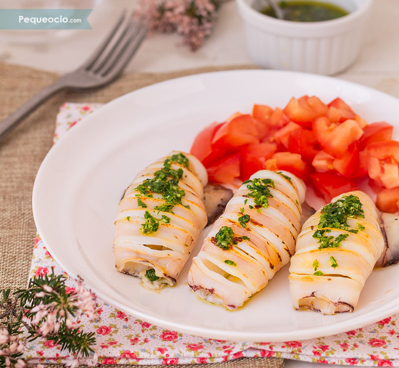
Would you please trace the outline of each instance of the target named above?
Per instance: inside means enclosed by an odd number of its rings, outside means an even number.
[[[42,102],[47,98],[66,88],[66,84],[62,79],[57,80],[55,83],[42,89],[40,92],[35,94],[30,100],[26,101],[21,107],[14,111],[11,115],[0,121],[0,140],[11,131],[11,129],[22,121],[24,117],[29,115],[33,110],[36,109]]]

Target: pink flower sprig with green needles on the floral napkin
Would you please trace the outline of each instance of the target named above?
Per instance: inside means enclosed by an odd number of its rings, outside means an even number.
[[[83,314],[98,319],[96,296],[86,290],[81,278],[76,280],[73,293],[67,290],[65,281],[65,276],[55,276],[53,271],[32,278],[26,289],[14,293],[14,299],[9,289],[0,290],[0,321],[5,319],[0,323],[0,368],[25,367],[19,358],[25,347],[19,338],[22,333],[30,340],[44,337],[60,345],[61,350],[67,349],[74,360],[71,367],[79,364],[79,358],[95,353],[95,333],[81,331],[72,319]]]

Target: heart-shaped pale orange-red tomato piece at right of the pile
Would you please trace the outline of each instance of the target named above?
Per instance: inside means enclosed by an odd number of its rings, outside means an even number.
[[[348,147],[363,135],[362,128],[355,120],[345,120],[337,125],[331,124],[326,117],[314,121],[313,132],[324,150],[337,158],[344,157]]]

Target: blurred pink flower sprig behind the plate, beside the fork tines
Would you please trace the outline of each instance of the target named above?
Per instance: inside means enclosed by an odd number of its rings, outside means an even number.
[[[222,0],[141,0],[139,14],[153,31],[183,36],[183,44],[197,50],[210,35]]]

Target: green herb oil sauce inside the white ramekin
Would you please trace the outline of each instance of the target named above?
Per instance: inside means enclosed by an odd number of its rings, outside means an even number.
[[[320,1],[280,1],[278,5],[284,11],[284,19],[292,21],[322,21],[349,14],[341,6]],[[265,7],[260,12],[277,18],[273,8],[270,6]]]

